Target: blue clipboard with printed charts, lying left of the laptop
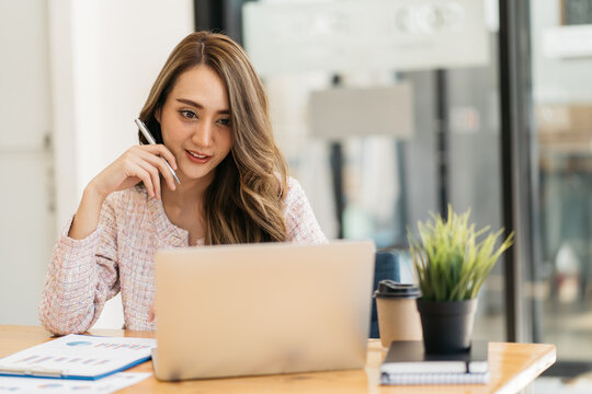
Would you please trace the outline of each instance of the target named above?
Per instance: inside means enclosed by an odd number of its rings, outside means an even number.
[[[149,360],[156,344],[70,334],[0,359],[0,375],[96,380]]]

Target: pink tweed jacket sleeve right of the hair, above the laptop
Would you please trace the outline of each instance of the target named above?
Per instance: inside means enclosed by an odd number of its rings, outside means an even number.
[[[288,178],[285,205],[287,241],[310,244],[328,242],[300,183],[292,177]]]

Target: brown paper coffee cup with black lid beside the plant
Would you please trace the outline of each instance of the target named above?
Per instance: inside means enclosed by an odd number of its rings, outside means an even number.
[[[394,340],[422,340],[421,320],[415,300],[421,296],[415,285],[380,280],[374,292],[378,329],[383,347]]]

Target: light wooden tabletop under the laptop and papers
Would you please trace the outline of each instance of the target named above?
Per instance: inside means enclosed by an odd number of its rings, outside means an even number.
[[[153,337],[153,332],[93,329],[107,336]],[[0,325],[0,357],[49,340],[41,327]],[[150,376],[119,393],[516,393],[555,362],[555,345],[489,344],[489,384],[470,385],[379,385],[378,367],[385,356],[380,343],[369,339],[365,369],[284,375],[195,380],[179,383],[159,382]],[[152,362],[134,367],[129,372],[152,372]]]

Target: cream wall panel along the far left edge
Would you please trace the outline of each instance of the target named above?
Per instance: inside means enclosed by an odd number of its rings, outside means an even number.
[[[44,0],[0,1],[0,324],[38,324],[55,234]]]

